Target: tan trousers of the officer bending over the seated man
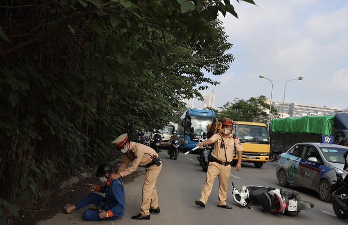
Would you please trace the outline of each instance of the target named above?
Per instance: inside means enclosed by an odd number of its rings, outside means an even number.
[[[140,213],[142,215],[150,215],[150,207],[151,209],[157,209],[158,207],[158,196],[156,191],[156,181],[157,177],[160,174],[160,171],[162,169],[162,161],[161,165],[152,165],[150,167],[147,167],[146,175],[145,175],[145,181],[143,185],[143,191],[142,191],[142,204],[140,208]]]

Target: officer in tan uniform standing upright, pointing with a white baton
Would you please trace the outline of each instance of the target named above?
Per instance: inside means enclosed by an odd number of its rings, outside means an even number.
[[[227,183],[231,173],[231,163],[233,160],[233,150],[237,151],[238,162],[235,166],[237,171],[241,170],[242,164],[242,144],[238,138],[233,138],[231,133],[232,120],[229,118],[222,118],[222,133],[214,134],[211,138],[196,144],[196,146],[214,144],[214,148],[211,152],[211,162],[209,162],[207,177],[202,189],[202,196],[199,201],[195,201],[195,204],[200,207],[205,207],[208,201],[211,189],[213,187],[216,176],[219,177],[219,202],[217,207],[232,209],[225,202],[227,198]]]

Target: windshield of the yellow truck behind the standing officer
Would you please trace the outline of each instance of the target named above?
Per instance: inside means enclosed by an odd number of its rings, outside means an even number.
[[[260,142],[269,142],[266,127],[236,124],[236,129],[235,134],[240,140],[258,140]],[[234,130],[232,132],[234,132]]]

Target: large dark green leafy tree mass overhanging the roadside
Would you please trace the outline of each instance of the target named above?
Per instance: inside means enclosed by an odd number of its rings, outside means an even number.
[[[254,4],[252,1],[245,1]],[[0,194],[34,205],[119,158],[111,141],[163,127],[233,61],[229,1],[5,0],[0,8]],[[197,87],[197,88],[194,88]],[[6,169],[5,169],[6,168]],[[8,189],[11,192],[8,192]],[[42,205],[45,202],[42,202]]]

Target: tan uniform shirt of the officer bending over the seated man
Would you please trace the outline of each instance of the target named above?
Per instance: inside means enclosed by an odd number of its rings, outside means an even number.
[[[149,146],[139,144],[137,142],[129,143],[128,152],[123,154],[122,163],[118,172],[121,177],[127,176],[128,174],[137,170],[138,166],[144,166],[151,162],[151,156],[156,156],[158,158],[158,154],[156,151]],[[130,154],[130,151],[134,152],[134,155]],[[146,154],[147,153],[147,154]],[[148,155],[149,154],[149,155]],[[128,167],[129,162],[132,160],[132,166]]]

